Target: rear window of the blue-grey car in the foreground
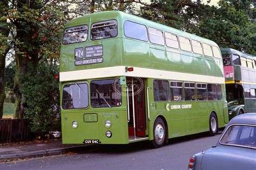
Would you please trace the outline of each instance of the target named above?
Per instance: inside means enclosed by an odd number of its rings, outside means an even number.
[[[231,125],[220,138],[220,144],[256,148],[256,126]]]

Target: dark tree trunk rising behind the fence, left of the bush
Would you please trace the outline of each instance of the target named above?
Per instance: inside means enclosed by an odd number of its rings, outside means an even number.
[[[20,12],[23,11],[23,5],[26,4],[27,6],[31,6],[30,1],[28,0],[20,0],[17,3],[17,9]],[[35,6],[34,6],[35,8]],[[36,25],[32,25],[26,20],[22,20],[22,22],[27,23],[26,27],[20,25],[19,22],[16,22],[16,31],[17,31],[17,39],[22,42],[21,44],[17,45],[15,49],[15,62],[16,62],[16,70],[15,70],[15,80],[14,80],[14,94],[15,94],[15,119],[24,118],[24,108],[25,108],[25,99],[19,90],[21,84],[20,79],[23,74],[26,74],[28,71],[28,65],[31,62],[35,67],[35,70],[38,66],[39,58],[38,58],[38,51],[39,46],[36,49],[31,50],[31,38],[35,34],[39,28]],[[24,47],[26,46],[26,47]],[[33,46],[36,46],[33,44]],[[30,50],[29,50],[30,49]]]

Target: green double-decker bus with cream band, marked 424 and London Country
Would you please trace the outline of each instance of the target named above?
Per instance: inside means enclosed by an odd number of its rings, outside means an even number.
[[[215,42],[120,11],[65,25],[60,51],[64,144],[129,144],[217,133],[228,122]]]

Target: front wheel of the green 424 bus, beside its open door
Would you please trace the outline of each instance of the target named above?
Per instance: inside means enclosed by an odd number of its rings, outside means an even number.
[[[152,141],[153,147],[158,148],[164,145],[165,143],[165,137],[166,137],[166,129],[165,129],[165,123],[163,119],[158,117],[156,121],[154,121],[154,139]]]

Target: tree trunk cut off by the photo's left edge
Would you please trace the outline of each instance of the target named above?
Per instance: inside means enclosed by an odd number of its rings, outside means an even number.
[[[8,1],[0,2],[0,18],[4,16],[4,9],[6,9],[8,5]],[[6,20],[2,20],[0,22],[0,33],[2,36],[7,38],[9,31],[5,28]],[[3,117],[3,107],[4,107],[4,99],[5,99],[5,56],[8,53],[10,47],[8,46],[7,39],[3,40],[3,43],[0,46],[3,51],[0,53],[0,119]]]

